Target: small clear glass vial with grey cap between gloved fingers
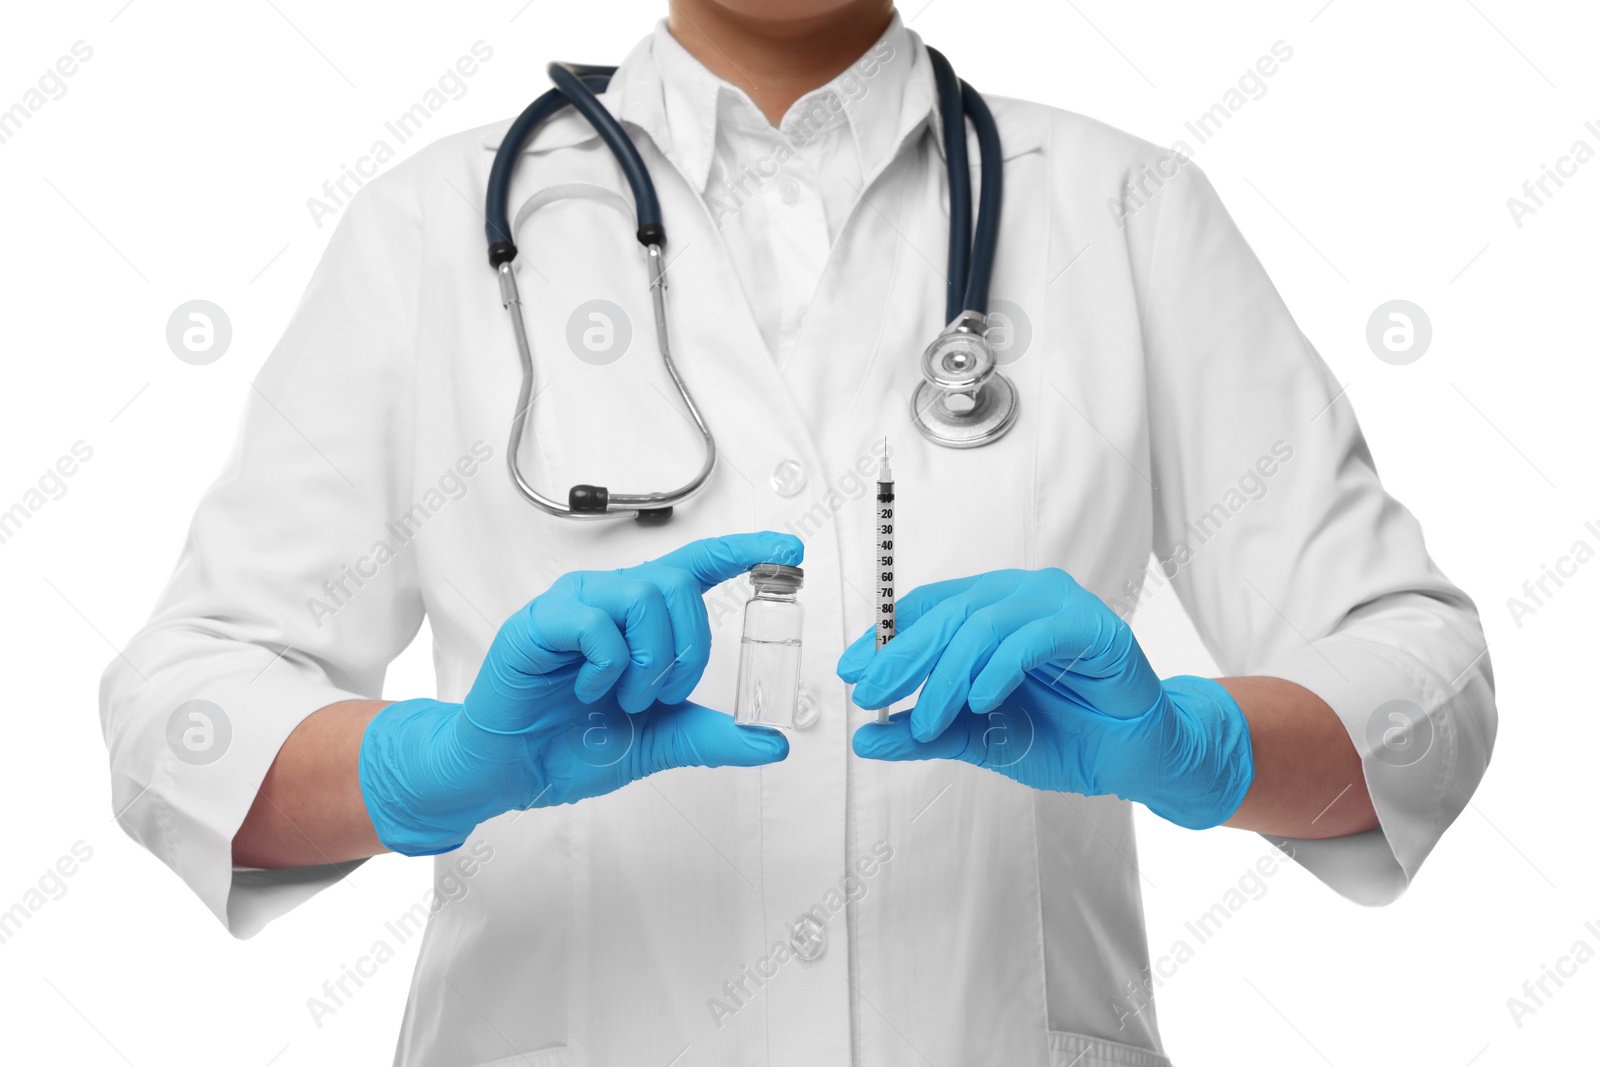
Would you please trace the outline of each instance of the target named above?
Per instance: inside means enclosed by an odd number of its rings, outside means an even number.
[[[792,729],[800,701],[800,622],[805,608],[795,600],[805,571],[782,563],[750,568],[750,601],[744,605],[739,645],[739,694],[733,721],[741,726]]]

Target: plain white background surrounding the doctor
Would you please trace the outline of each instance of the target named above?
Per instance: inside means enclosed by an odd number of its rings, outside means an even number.
[[[1600,149],[1584,130],[1600,126],[1600,16],[1578,0],[1323,5],[931,0],[902,14],[987,93],[1190,142],[1488,632],[1494,761],[1411,891],[1363,910],[1280,869],[1163,984],[1168,1051],[1190,1067],[1587,1061],[1600,960],[1549,985],[1520,1027],[1506,1000],[1578,939],[1600,949],[1584,929],[1600,931],[1600,561],[1522,625],[1506,600],[1579,537],[1600,545],[1584,530],[1600,528],[1600,160],[1520,229],[1506,200],[1576,139]],[[0,544],[0,910],[77,841],[93,857],[0,944],[0,1057],[389,1061],[414,945],[322,1027],[306,1000],[426,893],[427,864],[374,861],[235,942],[114,822],[98,677],[155,601],[331,230],[306,198],[474,42],[494,58],[424,139],[520,110],[552,58],[618,61],[659,14],[653,0],[10,5],[0,107],[74,42],[94,54],[0,144],[0,510],[75,442],[93,459]],[[1294,54],[1267,93],[1195,147],[1184,122],[1278,40]],[[195,298],[234,325],[210,366],[181,363],[165,341],[168,315]],[[1395,298],[1434,323],[1410,366],[1365,341],[1371,312]],[[1170,592],[1136,627],[1163,673],[1210,669]],[[389,689],[432,693],[426,630]],[[1267,848],[1139,819],[1160,955]]]

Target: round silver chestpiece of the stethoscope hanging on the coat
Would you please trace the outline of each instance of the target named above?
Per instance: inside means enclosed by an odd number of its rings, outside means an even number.
[[[934,445],[978,448],[998,440],[1016,421],[1016,387],[997,374],[989,322],[962,312],[922,354],[922,378],[910,418]]]

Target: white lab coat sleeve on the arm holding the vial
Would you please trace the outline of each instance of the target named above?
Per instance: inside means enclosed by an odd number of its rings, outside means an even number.
[[[118,821],[240,937],[349,872],[235,870],[232,838],[294,726],[378,697],[422,619],[414,549],[386,526],[410,496],[421,261],[394,189],[346,208],[176,573],[101,681]]]

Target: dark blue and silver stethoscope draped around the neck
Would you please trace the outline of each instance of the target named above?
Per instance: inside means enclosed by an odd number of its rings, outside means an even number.
[[[998,373],[995,352],[986,336],[989,330],[989,278],[994,272],[995,245],[1000,238],[1002,160],[1000,131],[995,128],[989,106],[973,86],[955,77],[949,61],[928,50],[933,61],[933,80],[939,91],[939,118],[944,126],[944,162],[950,184],[950,256],[946,280],[944,317],[947,326],[922,354],[922,381],[912,392],[912,422],[936,445],[946,448],[978,448],[1000,440],[1016,422],[1018,394],[1011,381]],[[517,490],[534,507],[550,515],[566,518],[637,518],[661,523],[672,517],[672,509],[699,493],[717,466],[717,442],[712,438],[706,418],[694,405],[683,376],[672,362],[667,344],[666,304],[666,243],[667,230],[661,224],[661,202],[650,171],[629,139],[622,125],[595,96],[611,83],[616,67],[587,67],[571,62],[552,62],[550,82],[555,88],[533,101],[517,122],[506,131],[490,170],[488,206],[485,221],[490,240],[490,266],[499,275],[501,304],[510,312],[512,333],[517,338],[517,355],[522,360],[522,389],[517,395],[517,414],[512,418],[507,466]],[[622,176],[634,192],[634,214],[638,221],[638,243],[645,246],[650,262],[650,298],[656,317],[656,344],[661,362],[677,386],[690,418],[706,442],[706,461],[699,472],[685,485],[667,493],[611,493],[603,485],[574,485],[566,493],[566,502],[539,493],[518,466],[523,437],[528,429],[528,408],[533,403],[533,352],[528,346],[528,330],[522,318],[522,296],[517,291],[517,275],[512,261],[517,245],[512,240],[517,229],[507,218],[510,179],[523,146],[533,139],[546,118],[571,104],[589,120],[616,157]],[[978,226],[973,227],[973,187],[966,158],[966,120],[978,134],[978,158],[982,168],[982,189],[978,197]],[[570,187],[563,187],[570,189]],[[555,190],[546,190],[546,194]],[[544,194],[530,200],[518,211],[517,224],[528,216]],[[973,234],[968,240],[968,232]]]

